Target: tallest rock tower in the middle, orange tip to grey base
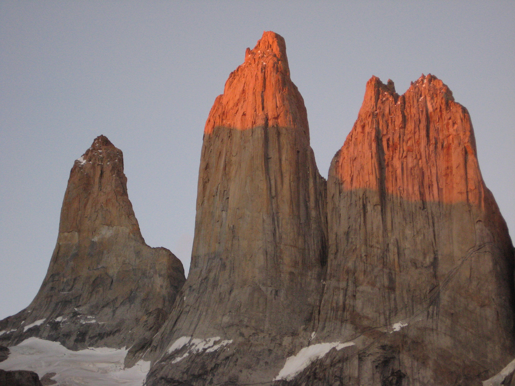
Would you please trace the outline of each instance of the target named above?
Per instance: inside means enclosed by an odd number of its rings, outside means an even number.
[[[149,384],[277,375],[317,312],[324,202],[284,40],[265,32],[205,125],[190,274],[156,339]]]

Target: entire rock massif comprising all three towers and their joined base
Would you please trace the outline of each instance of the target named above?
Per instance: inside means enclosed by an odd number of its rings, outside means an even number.
[[[100,136],[0,344],[130,346],[149,386],[513,384],[513,251],[442,81],[398,95],[372,77],[326,183],[284,40],[265,32],[205,124],[184,286],[175,256],[144,243],[122,152]]]

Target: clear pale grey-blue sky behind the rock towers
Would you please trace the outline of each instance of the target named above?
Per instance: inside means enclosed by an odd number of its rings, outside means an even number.
[[[367,80],[422,73],[469,110],[479,165],[515,236],[515,2],[0,2],[0,318],[36,295],[75,159],[124,152],[146,242],[189,267],[202,132],[264,30],[286,40],[327,177]]]

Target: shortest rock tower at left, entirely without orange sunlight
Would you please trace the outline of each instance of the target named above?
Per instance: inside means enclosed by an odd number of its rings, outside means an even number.
[[[2,344],[31,336],[71,349],[150,342],[184,270],[170,251],[145,244],[126,183],[122,151],[100,135],[70,172],[41,289],[26,309],[0,322]]]

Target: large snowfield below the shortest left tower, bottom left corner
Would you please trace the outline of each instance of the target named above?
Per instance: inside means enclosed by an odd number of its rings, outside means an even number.
[[[56,373],[53,380],[66,386],[142,386],[150,362],[139,361],[124,368],[126,349],[89,348],[71,351],[58,342],[29,338],[9,347],[10,355],[0,362],[3,370],[30,370],[43,377]]]

